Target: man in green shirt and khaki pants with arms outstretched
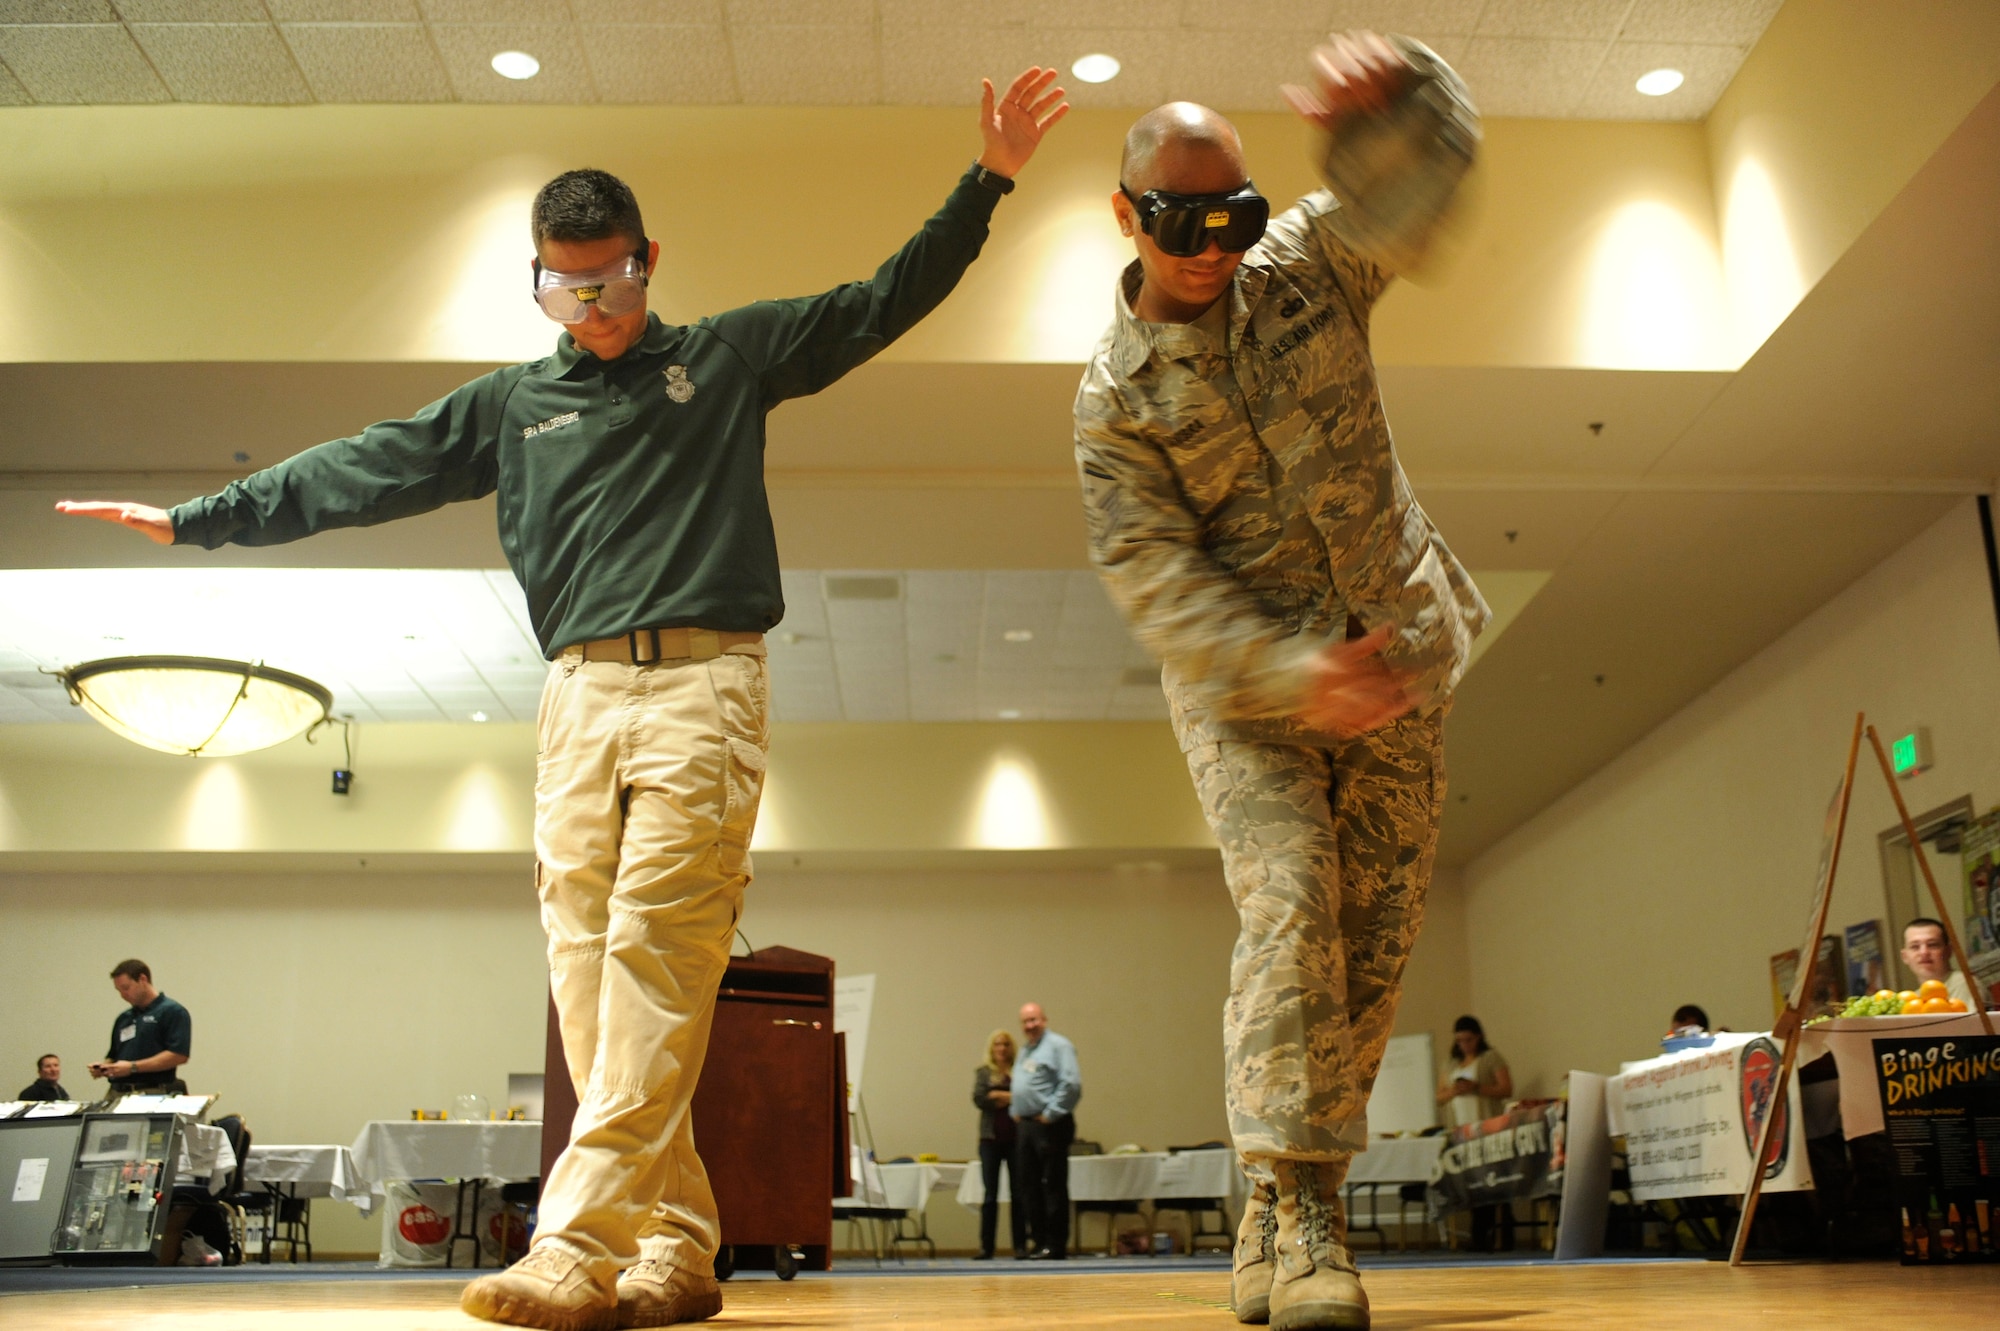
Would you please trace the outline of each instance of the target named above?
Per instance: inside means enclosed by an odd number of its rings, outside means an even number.
[[[922,320],[1068,110],[1054,70],[986,84],[982,152],[870,282],[676,328],[646,312],[658,242],[604,172],[534,202],[556,354],[406,422],[306,450],[172,512],[60,504],[156,542],[268,546],[498,490],[544,654],[536,887],[578,1111],[530,1253],[466,1285],[474,1317],[554,1331],[722,1309],[714,1193],[688,1103],[750,879],[764,632],[784,614],[764,418]],[[984,82],[984,80],[982,80]]]

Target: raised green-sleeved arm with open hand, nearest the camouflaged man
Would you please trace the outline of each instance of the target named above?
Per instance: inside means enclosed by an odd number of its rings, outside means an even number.
[[[820,392],[910,332],[952,294],[986,244],[986,222],[1002,184],[1028,164],[1042,136],[1070,110],[1054,82],[1056,70],[1040,66],[1022,70],[1000,96],[982,80],[976,168],[874,278],[820,296],[760,300],[708,322],[764,382],[766,406]],[[978,168],[1002,182],[982,182]]]

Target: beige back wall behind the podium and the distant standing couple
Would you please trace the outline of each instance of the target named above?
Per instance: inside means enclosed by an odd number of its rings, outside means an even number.
[[[126,955],[194,1013],[190,1085],[220,1091],[268,1143],[352,1141],[372,1117],[462,1091],[502,1103],[506,1075],[542,1063],[546,967],[524,873],[0,873],[0,1067],[18,1083],[52,1049],[70,1089],[88,1085],[118,1011],[104,975]],[[1086,1135],[1226,1135],[1236,921],[1214,865],[766,871],[742,927],[876,975],[864,1085],[884,1157],[974,1151],[972,1067],[1026,999],[1078,1043]],[[1464,919],[1440,877],[1398,1029],[1442,1045],[1462,1005]],[[316,1225],[322,1251],[376,1245],[350,1207],[322,1201]],[[932,1231],[976,1241],[948,1197]]]

